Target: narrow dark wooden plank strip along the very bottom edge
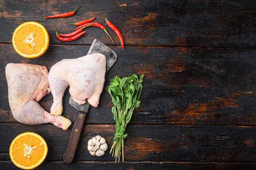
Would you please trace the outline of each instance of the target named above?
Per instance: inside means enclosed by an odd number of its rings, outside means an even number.
[[[11,161],[0,161],[4,170],[20,170]],[[112,161],[79,161],[65,164],[62,161],[44,161],[36,169],[97,169],[97,170],[253,170],[255,163],[194,163],[194,162],[124,162],[115,163]]]

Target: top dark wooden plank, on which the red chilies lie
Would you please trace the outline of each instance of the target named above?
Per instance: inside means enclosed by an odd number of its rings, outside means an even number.
[[[256,4],[251,1],[205,0],[115,0],[108,4],[51,0],[0,2],[0,42],[10,43],[14,29],[26,21],[37,21],[45,26],[51,44],[90,44],[94,38],[111,45],[108,35],[101,29],[88,28],[83,38],[74,42],[59,42],[55,37],[53,21],[60,33],[74,30],[75,26],[61,23],[76,22],[91,17],[105,24],[112,21],[124,35],[126,46],[222,46],[256,47]],[[44,19],[47,15],[72,11],[82,5],[70,18]],[[115,45],[119,39],[106,26]]]

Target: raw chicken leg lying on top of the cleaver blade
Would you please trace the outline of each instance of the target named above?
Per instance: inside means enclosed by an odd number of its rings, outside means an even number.
[[[84,104],[87,99],[90,105],[97,107],[105,73],[106,57],[99,53],[64,59],[54,64],[49,71],[49,86],[53,96],[51,114],[61,115],[62,98],[68,86],[74,102]]]

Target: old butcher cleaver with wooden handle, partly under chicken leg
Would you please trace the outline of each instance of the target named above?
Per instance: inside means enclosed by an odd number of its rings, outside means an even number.
[[[115,63],[117,60],[117,53],[110,49],[108,46],[100,42],[99,40],[95,39],[92,42],[92,45],[87,53],[101,53],[106,56],[106,73],[110,69],[110,67]],[[95,68],[97,69],[97,68]],[[83,125],[85,123],[85,118],[90,108],[90,104],[86,102],[85,104],[79,105],[70,96],[70,105],[78,110],[78,114],[76,116],[76,120],[74,122],[74,126],[72,128],[70,139],[67,144],[67,149],[62,156],[62,160],[64,163],[71,163],[75,157],[76,149],[79,144],[79,139],[81,136],[81,132],[83,129]]]

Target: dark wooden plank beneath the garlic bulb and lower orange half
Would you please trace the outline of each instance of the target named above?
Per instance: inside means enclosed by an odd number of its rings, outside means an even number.
[[[109,153],[114,137],[114,125],[85,124],[75,161],[115,161]],[[48,145],[46,161],[61,161],[70,129],[52,124],[0,124],[0,160],[7,157],[12,139],[26,131],[41,135]],[[125,161],[190,161],[190,162],[248,162],[255,163],[255,126],[180,126],[129,125],[124,142]],[[104,137],[108,150],[102,157],[93,157],[87,142],[96,135]]]

